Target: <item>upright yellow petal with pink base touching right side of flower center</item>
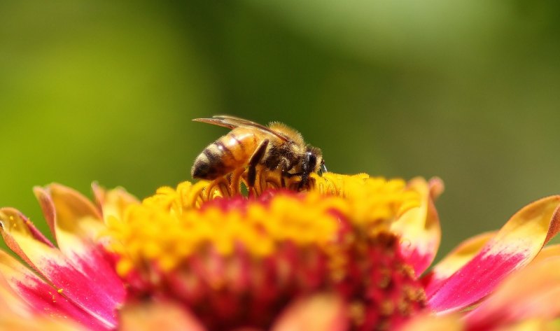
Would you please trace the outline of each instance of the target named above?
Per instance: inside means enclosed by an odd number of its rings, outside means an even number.
[[[420,193],[421,205],[400,216],[391,230],[400,235],[401,253],[414,267],[416,276],[420,276],[432,263],[440,246],[440,219],[433,200],[442,192],[443,182],[432,178],[426,183],[418,177],[409,182],[409,187]]]

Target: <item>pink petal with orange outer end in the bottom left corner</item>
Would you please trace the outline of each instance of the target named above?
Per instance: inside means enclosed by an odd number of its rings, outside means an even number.
[[[0,316],[9,314],[11,318],[10,321],[6,321],[7,323],[15,323],[18,318],[30,319],[45,314],[53,318],[70,318],[90,330],[108,329],[107,325],[103,325],[97,318],[92,318],[90,314],[68,300],[64,290],[57,290],[45,283],[4,251],[0,251],[0,279],[0,302],[9,304],[9,310],[2,309]],[[0,323],[0,327],[6,330],[5,324]]]

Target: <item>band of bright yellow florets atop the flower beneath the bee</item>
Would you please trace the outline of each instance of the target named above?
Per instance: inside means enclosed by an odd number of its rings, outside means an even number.
[[[332,243],[342,220],[373,235],[388,230],[402,211],[419,203],[416,192],[407,190],[402,180],[331,173],[311,176],[306,192],[277,193],[269,201],[246,200],[239,196],[240,176],[160,188],[141,204],[130,206],[123,219],[111,218],[109,231],[116,239],[112,248],[120,255],[118,272],[127,274],[145,262],[170,270],[195,253],[228,256],[238,246],[262,258],[286,242],[333,255]],[[255,192],[280,186],[274,176],[261,172],[257,182],[265,184]],[[211,200],[215,202],[204,204]]]

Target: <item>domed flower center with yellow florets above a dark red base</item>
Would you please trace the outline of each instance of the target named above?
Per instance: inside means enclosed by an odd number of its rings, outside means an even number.
[[[393,327],[423,308],[389,231],[418,204],[404,181],[328,173],[294,192],[295,182],[260,171],[249,199],[241,181],[239,172],[161,188],[111,219],[133,296],[184,302],[209,330],[267,328],[294,297],[319,292],[340,295],[358,328]]]

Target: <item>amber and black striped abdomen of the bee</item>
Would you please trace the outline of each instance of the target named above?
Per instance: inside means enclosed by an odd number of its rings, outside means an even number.
[[[214,179],[245,167],[261,141],[260,132],[237,127],[202,150],[190,175],[193,178]]]

